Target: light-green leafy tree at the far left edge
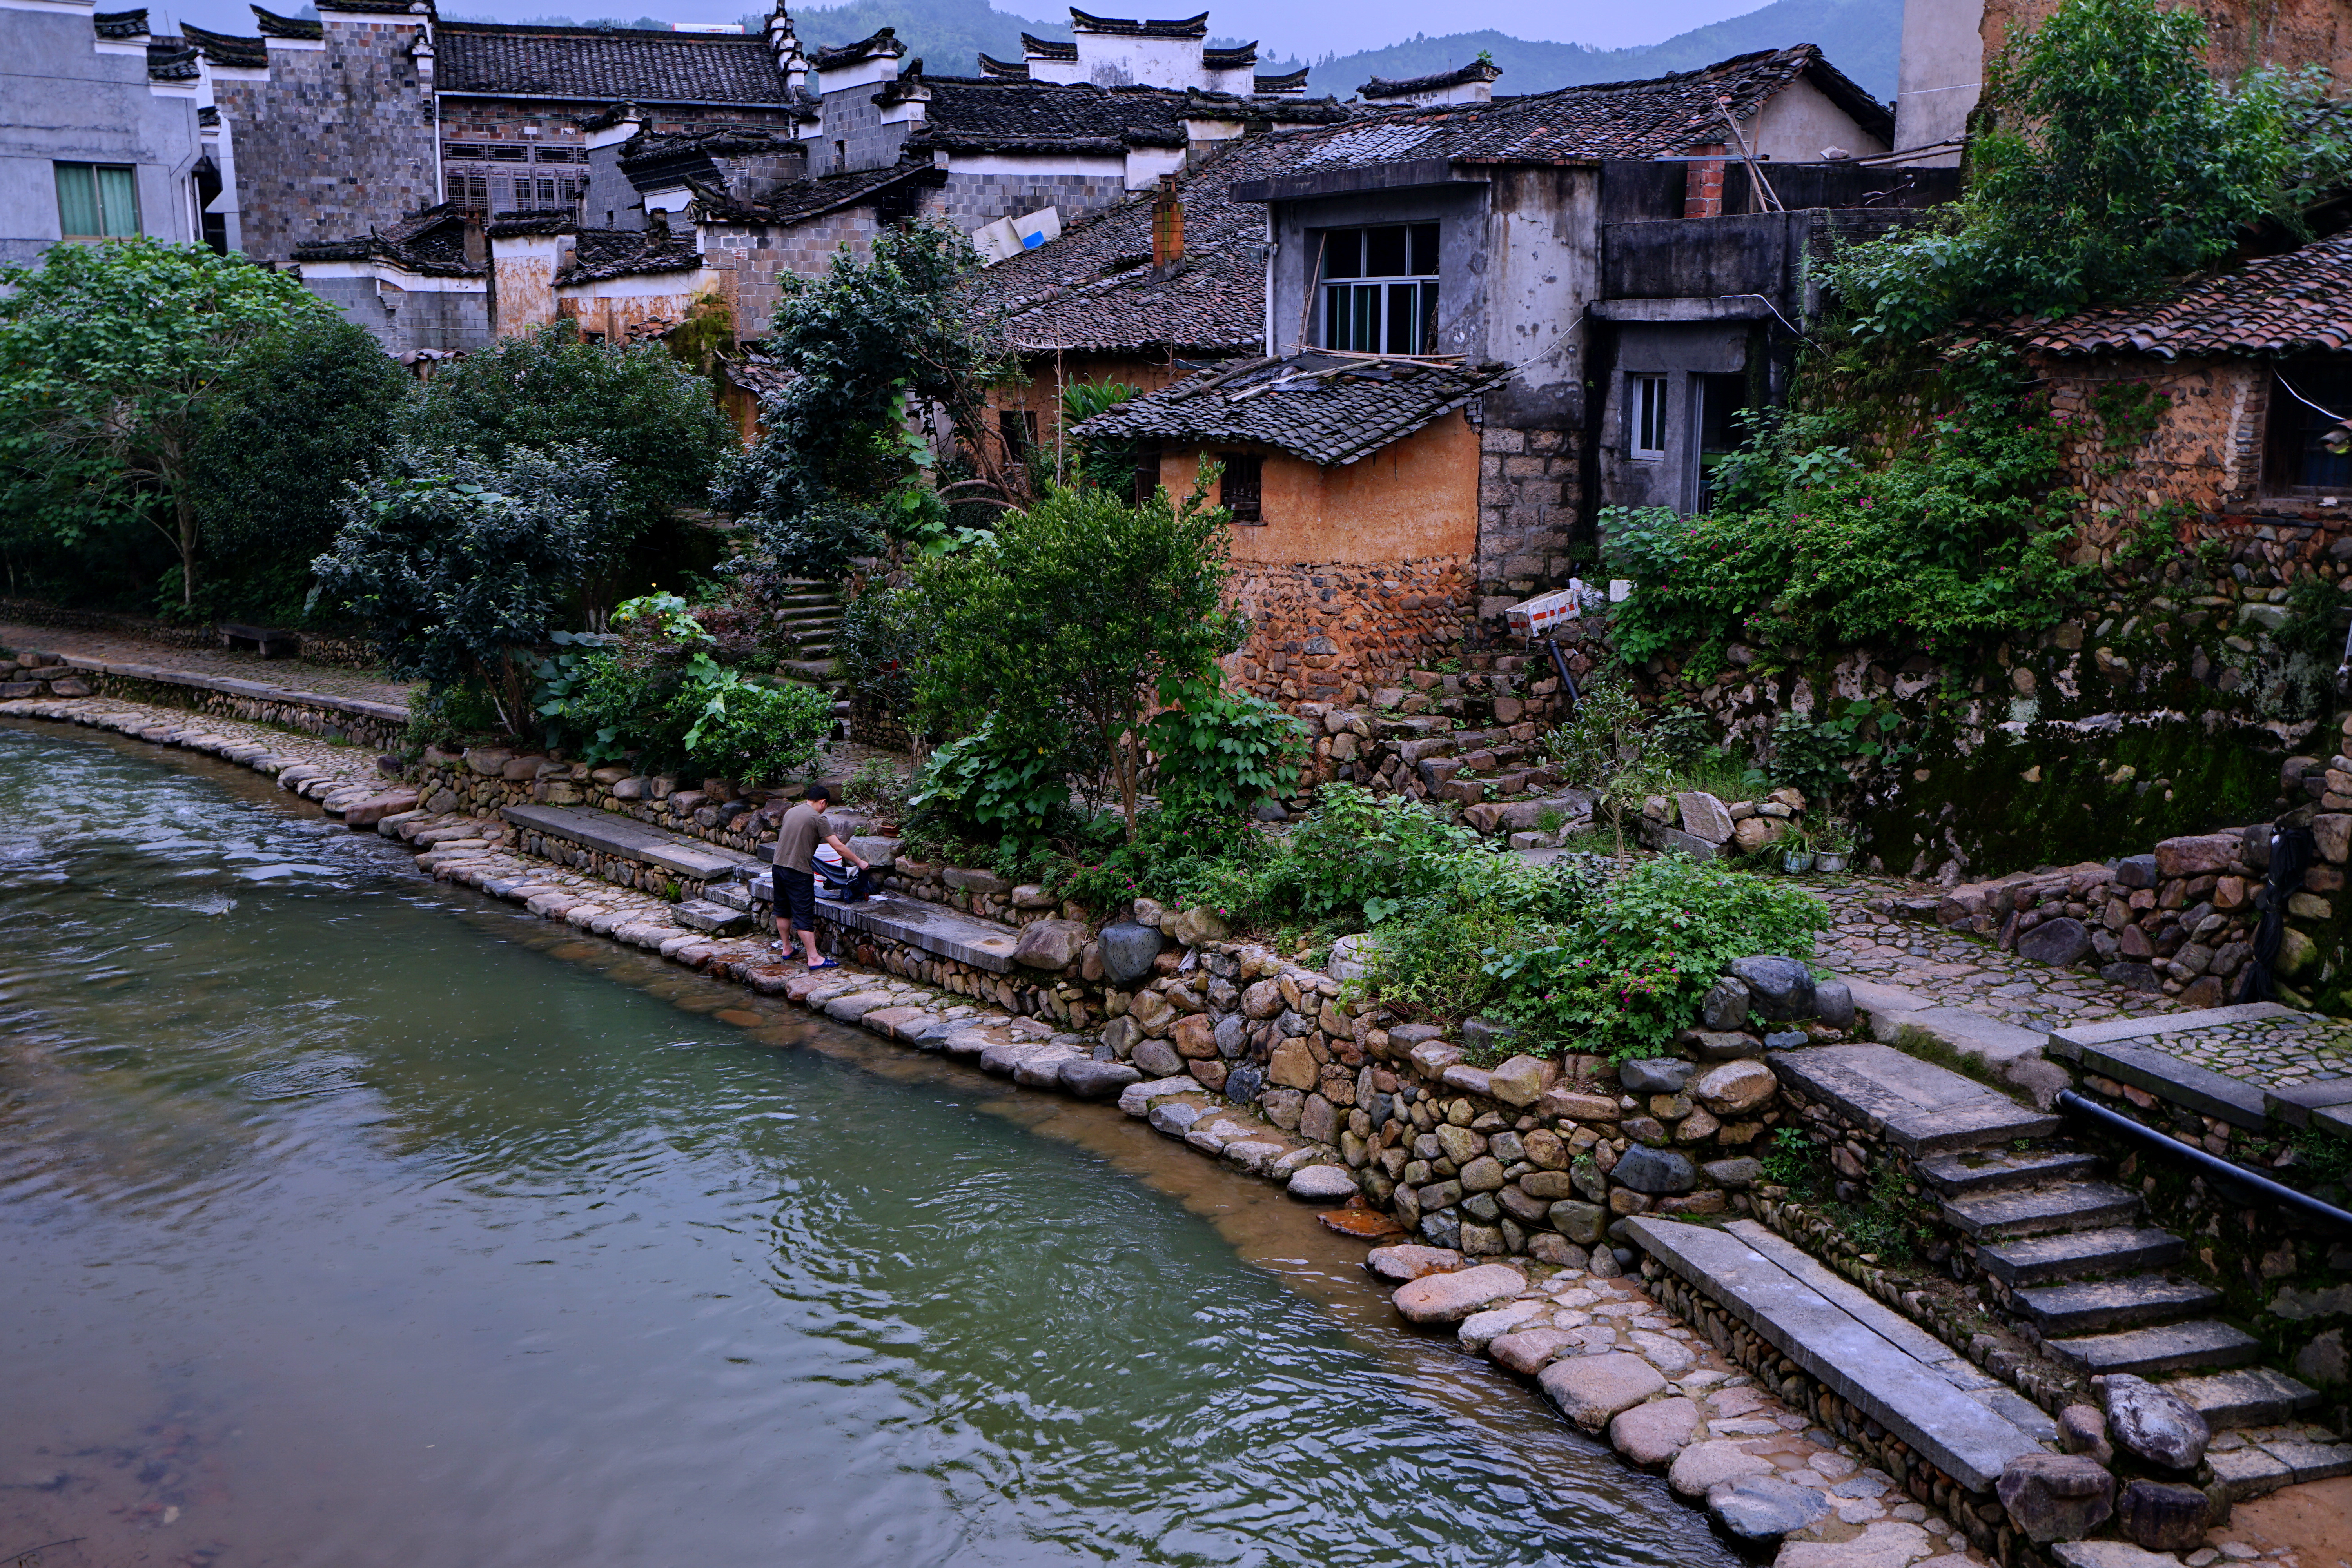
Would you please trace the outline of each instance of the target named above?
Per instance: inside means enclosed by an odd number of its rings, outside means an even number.
[[[200,244],[52,244],[0,268],[0,463],[52,529],[129,505],[179,552],[195,604],[191,484],[205,400],[240,350],[332,310],[287,273]],[[68,501],[92,489],[87,503]]]

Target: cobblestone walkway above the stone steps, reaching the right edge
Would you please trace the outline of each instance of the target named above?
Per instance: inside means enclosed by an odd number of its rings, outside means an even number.
[[[1813,957],[1839,973],[1900,985],[1940,1006],[1962,1006],[2039,1032],[2183,1011],[2171,997],[2124,990],[2079,969],[2049,969],[1969,931],[1945,931],[1867,907],[1872,900],[1919,898],[1940,889],[1898,877],[1806,877],[1804,884],[1830,905],[1832,919],[1813,940]],[[2352,1023],[2336,1018],[2303,1016],[2166,1034],[2161,1048],[2251,1084],[2352,1077]]]

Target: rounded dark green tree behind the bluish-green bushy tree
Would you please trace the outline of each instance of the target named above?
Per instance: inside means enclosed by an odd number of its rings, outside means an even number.
[[[517,451],[579,447],[609,463],[614,557],[586,583],[590,621],[616,590],[619,552],[701,505],[734,428],[696,376],[659,343],[581,343],[569,322],[541,327],[437,371],[400,433],[419,447],[503,463]]]

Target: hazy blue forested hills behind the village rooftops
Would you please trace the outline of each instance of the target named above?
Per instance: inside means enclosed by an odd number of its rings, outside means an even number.
[[[1070,38],[1070,24],[1030,21],[1011,12],[1000,12],[988,0],[849,0],[826,9],[795,9],[800,35],[821,45],[844,45],[880,28],[898,28],[898,38],[910,54],[922,56],[931,75],[971,75],[978,71],[976,54],[995,59],[1021,59],[1021,33],[1037,38]],[[746,16],[750,31],[760,28],[760,16]],[[1244,38],[1218,38],[1214,42],[1237,45]],[[1552,45],[1510,33],[1451,33],[1446,38],[1414,38],[1385,49],[1359,49],[1355,54],[1327,54],[1319,61],[1282,61],[1272,54],[1258,59],[1258,71],[1275,75],[1312,63],[1308,92],[1348,96],[1374,75],[1390,80],[1406,75],[1430,75],[1454,66],[1468,66],[1479,49],[1503,68],[1496,92],[1548,92],[1552,87],[1576,87],[1578,82],[1625,82],[1670,71],[1691,71],[1733,54],[1752,49],[1778,49],[1785,45],[1820,45],[1830,61],[1870,89],[1879,99],[1896,96],[1896,59],[1903,49],[1903,7],[1886,0],[1773,0],[1759,12],[1731,16],[1689,33],[1677,33],[1665,42],[1639,49],[1590,49],[1585,45]]]

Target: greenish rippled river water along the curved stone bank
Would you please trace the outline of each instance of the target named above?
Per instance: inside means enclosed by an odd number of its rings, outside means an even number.
[[[1682,1563],[1265,1185],[0,729],[0,1561]]]

